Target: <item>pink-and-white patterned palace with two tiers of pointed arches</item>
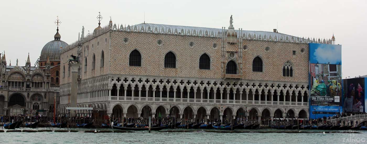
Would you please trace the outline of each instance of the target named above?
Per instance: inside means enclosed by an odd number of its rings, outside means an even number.
[[[78,107],[111,117],[308,118],[308,43],[268,31],[141,23],[99,26],[61,51],[61,113],[70,106],[67,62],[79,58]],[[84,115],[87,111],[77,111]]]

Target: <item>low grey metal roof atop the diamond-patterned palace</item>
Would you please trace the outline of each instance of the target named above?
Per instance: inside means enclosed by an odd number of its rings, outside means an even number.
[[[201,30],[202,33],[204,34],[205,31],[208,31],[208,33],[211,33],[211,31],[214,32],[214,34],[218,34],[218,32],[222,32],[222,29],[215,29],[215,28],[207,28],[207,27],[192,27],[192,26],[175,26],[175,25],[167,25],[167,24],[152,24],[152,23],[141,23],[141,24],[136,24],[131,26],[132,29],[134,28],[134,26],[137,27],[142,27],[144,26],[145,29],[147,29],[148,27],[150,27],[153,31],[153,28],[158,27],[158,28],[164,28],[166,29],[171,29],[172,33],[174,32],[175,29],[177,29],[178,32],[181,32],[182,30],[190,30],[190,31],[194,31],[196,30],[196,33],[199,33],[199,31]],[[237,34],[239,34],[239,30],[235,30],[237,32]],[[251,35],[266,35],[266,36],[277,36],[279,37],[288,37],[288,38],[292,38],[294,36],[292,35],[287,35],[287,34],[282,34],[282,33],[275,33],[275,32],[270,32],[270,31],[249,31],[249,30],[242,30],[242,34],[251,34]],[[298,37],[294,37],[294,38],[298,38]]]

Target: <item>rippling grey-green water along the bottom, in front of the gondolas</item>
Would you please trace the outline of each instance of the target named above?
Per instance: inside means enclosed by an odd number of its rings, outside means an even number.
[[[37,128],[59,129],[59,128]],[[211,133],[211,132],[155,132],[137,131],[134,133],[84,133],[79,132],[9,132],[0,133],[3,144],[366,144],[367,131],[361,134],[350,133]],[[70,130],[70,129],[69,129]],[[113,130],[113,129],[99,129]],[[171,130],[171,129],[167,129]],[[200,130],[200,129],[199,129]],[[274,129],[254,131],[276,131]],[[278,130],[279,131],[279,130]],[[302,130],[310,131],[310,130]],[[314,132],[320,132],[312,130]],[[322,132],[322,131],[321,131]]]

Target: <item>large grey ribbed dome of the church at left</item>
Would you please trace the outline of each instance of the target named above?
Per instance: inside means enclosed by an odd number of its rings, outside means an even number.
[[[66,46],[68,46],[68,43],[61,40],[46,43],[42,48],[40,61],[46,61],[47,57],[50,57],[50,60],[60,60],[61,47],[65,48]]]

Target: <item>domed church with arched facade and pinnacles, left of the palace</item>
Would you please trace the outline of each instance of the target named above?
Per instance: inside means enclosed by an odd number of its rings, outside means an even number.
[[[60,51],[68,46],[61,41],[59,29],[54,40],[42,48],[40,58],[31,66],[7,64],[5,52],[0,58],[0,115],[55,113],[59,96]],[[1,54],[0,54],[1,55]]]

